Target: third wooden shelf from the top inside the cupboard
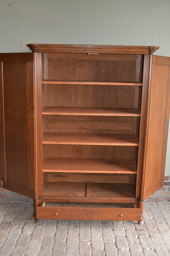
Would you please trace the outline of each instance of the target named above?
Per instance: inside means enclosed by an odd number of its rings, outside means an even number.
[[[43,144],[138,146],[135,134],[43,133]]]

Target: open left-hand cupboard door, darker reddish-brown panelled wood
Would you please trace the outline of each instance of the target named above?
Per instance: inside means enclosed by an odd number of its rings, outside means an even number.
[[[1,187],[35,198],[33,53],[0,54]]]

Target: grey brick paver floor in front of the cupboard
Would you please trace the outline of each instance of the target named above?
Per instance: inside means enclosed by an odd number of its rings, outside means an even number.
[[[39,220],[27,197],[0,197],[1,256],[169,256],[170,202],[144,202],[144,221]]]

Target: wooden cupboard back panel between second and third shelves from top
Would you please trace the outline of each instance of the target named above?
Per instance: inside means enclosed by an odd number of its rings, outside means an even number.
[[[138,117],[44,115],[44,132],[136,134]]]

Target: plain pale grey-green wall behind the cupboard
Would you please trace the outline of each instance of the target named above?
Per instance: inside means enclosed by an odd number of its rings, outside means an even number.
[[[28,43],[155,45],[170,56],[170,0],[0,0],[0,52]]]

